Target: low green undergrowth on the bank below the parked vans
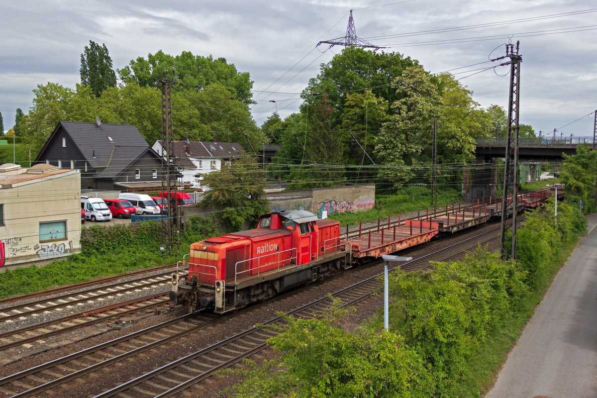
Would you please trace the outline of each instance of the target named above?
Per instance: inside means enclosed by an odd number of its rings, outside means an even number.
[[[131,270],[173,264],[188,252],[190,243],[219,235],[211,218],[192,216],[180,235],[181,252],[170,257],[159,251],[161,224],[139,223],[93,226],[82,232],[81,253],[54,261],[44,267],[19,267],[0,274],[0,298],[42,291],[66,283],[124,274]]]

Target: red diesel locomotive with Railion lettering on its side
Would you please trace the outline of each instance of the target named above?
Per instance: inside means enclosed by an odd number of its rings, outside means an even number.
[[[184,266],[187,274],[172,276],[170,299],[189,312],[225,313],[349,268],[350,245],[336,220],[274,212],[262,215],[256,229],[193,243]]]

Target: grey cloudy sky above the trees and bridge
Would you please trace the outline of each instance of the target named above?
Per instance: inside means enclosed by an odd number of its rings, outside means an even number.
[[[504,54],[508,36],[520,40],[521,122],[550,134],[558,128],[566,137],[592,136],[596,6],[589,0],[5,1],[0,112],[8,129],[17,107],[26,113],[31,106],[36,85],[75,87],[80,54],[93,40],[106,44],[115,68],[158,50],[226,58],[254,80],[252,112],[261,125],[276,107],[282,117],[298,109],[297,93],[341,50],[315,45],[344,36],[353,9],[359,37],[416,58],[432,73],[477,64],[453,73],[462,72],[455,76],[482,107],[507,107],[508,67],[478,69]]]

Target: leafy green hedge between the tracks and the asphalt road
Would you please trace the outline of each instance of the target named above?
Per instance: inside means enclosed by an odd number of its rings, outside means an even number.
[[[586,220],[553,200],[519,229],[518,259],[479,248],[436,270],[390,277],[390,331],[296,320],[269,341],[280,360],[251,365],[236,397],[478,397],[533,313]],[[538,258],[537,253],[541,258]],[[485,353],[491,353],[487,360]],[[386,382],[380,382],[385,380]]]

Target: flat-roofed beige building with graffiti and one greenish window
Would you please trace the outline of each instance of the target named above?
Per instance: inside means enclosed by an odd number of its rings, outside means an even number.
[[[0,239],[7,266],[80,252],[79,170],[0,165]]]

